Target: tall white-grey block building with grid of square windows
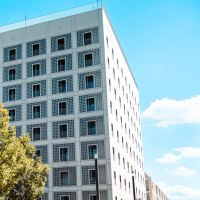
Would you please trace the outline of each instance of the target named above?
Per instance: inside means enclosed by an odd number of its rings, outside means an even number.
[[[50,166],[43,200],[146,200],[139,94],[102,6],[0,27],[0,102]],[[136,197],[134,197],[134,191]]]

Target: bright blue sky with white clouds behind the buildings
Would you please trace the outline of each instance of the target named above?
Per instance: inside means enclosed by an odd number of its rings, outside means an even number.
[[[0,26],[89,2],[1,0]],[[171,200],[199,200],[200,1],[104,4],[139,86],[145,169]]]

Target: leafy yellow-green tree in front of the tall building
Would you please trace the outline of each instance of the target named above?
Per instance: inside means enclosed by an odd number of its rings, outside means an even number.
[[[49,168],[35,156],[30,137],[16,137],[8,111],[0,104],[0,200],[36,200],[45,187]]]

